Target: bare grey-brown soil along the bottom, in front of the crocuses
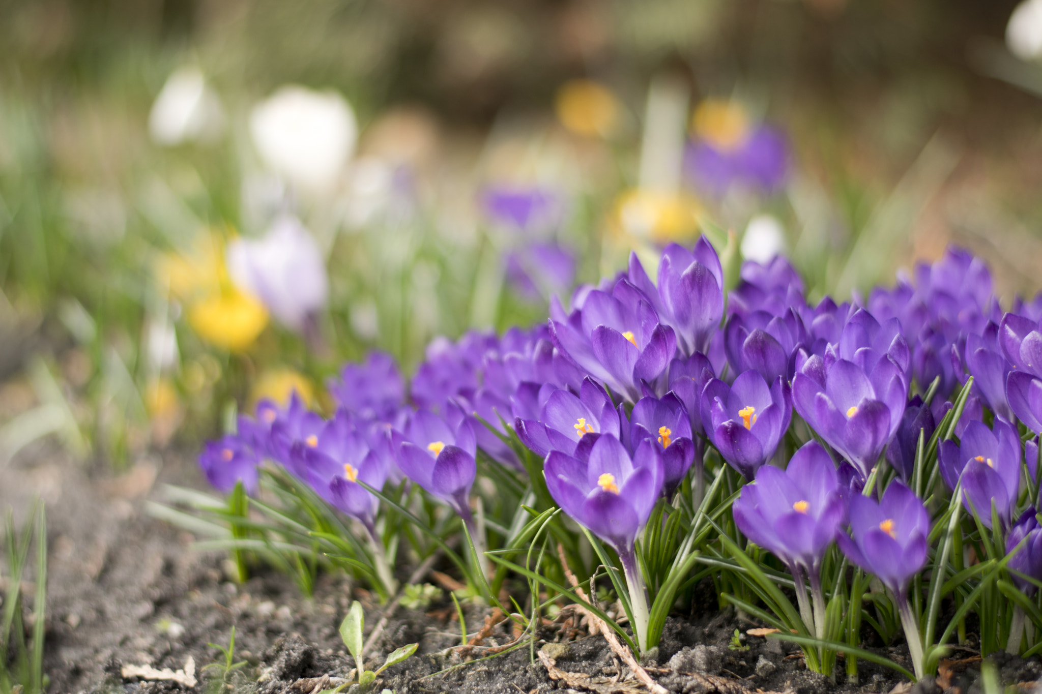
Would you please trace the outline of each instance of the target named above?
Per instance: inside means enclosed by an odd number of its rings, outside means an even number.
[[[353,591],[340,575],[320,575],[313,597],[304,597],[288,577],[263,570],[245,584],[230,580],[232,567],[220,554],[198,554],[193,537],[151,518],[145,499],[156,484],[202,488],[194,461],[171,455],[139,464],[113,479],[98,479],[56,446],[36,444],[0,468],[0,504],[24,517],[31,498],[47,502],[50,547],[48,631],[45,672],[50,692],[184,691],[169,680],[124,678],[127,665],[183,670],[191,658],[198,684],[191,691],[216,694],[317,694],[353,678],[354,663],[338,627],[351,599],[367,608],[367,628],[380,609],[365,591]],[[760,624],[716,611],[706,594],[696,605],[706,614],[670,618],[656,654],[642,665],[671,692],[750,694],[754,692],[887,693],[900,684],[889,670],[861,662],[860,685],[839,685],[809,672],[799,650],[782,642],[746,636]],[[480,606],[465,607],[469,631],[489,616]],[[247,665],[229,674],[202,668],[220,659],[208,643],[226,645],[235,626],[235,660]],[[735,629],[740,649],[731,649]],[[387,670],[371,691],[430,692],[590,692],[647,691],[612,652],[601,636],[589,636],[577,615],[563,610],[545,622],[540,640],[489,660],[499,646],[514,643],[510,621],[487,629],[478,645],[460,646],[460,625],[451,603],[427,612],[399,608],[389,619],[367,666],[375,669],[398,646],[418,642],[417,654]],[[564,642],[562,642],[564,641]],[[903,646],[884,649],[907,663]],[[537,651],[542,651],[539,657]],[[535,658],[534,658],[535,656]],[[978,662],[952,661],[942,668],[949,692],[978,689]],[[1038,660],[998,659],[1006,683],[1037,680]],[[842,661],[841,665],[842,667]],[[908,692],[911,689],[904,688]],[[903,692],[904,689],[898,690]],[[933,679],[915,694],[942,691]],[[345,690],[357,691],[356,686]]]

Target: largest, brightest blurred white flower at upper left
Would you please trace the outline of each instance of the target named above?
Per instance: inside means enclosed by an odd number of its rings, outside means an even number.
[[[354,153],[354,111],[336,92],[283,86],[253,107],[250,135],[265,164],[312,191],[332,187]]]

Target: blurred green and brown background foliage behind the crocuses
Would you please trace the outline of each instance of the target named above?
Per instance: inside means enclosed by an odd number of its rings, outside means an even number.
[[[263,393],[306,387],[322,406],[324,379],[373,348],[411,368],[437,335],[545,319],[548,291],[504,289],[519,241],[482,213],[482,190],[551,188],[577,279],[611,275],[649,242],[623,204],[646,185],[662,79],[691,108],[733,100],[786,133],[779,189],[694,189],[676,213],[739,237],[769,213],[815,295],[889,283],[949,242],[989,259],[1007,301],[1034,293],[1042,68],[1003,44],[1014,5],[0,0],[0,448],[54,433],[116,461],[194,446]],[[185,67],[218,96],[223,134],[162,147],[149,112]],[[607,91],[610,134],[562,125],[575,79]],[[264,176],[250,112],[286,84],[354,109],[333,194]],[[185,325],[164,258],[259,236],[273,196],[322,250],[327,308],[309,335],[269,326],[215,346]]]

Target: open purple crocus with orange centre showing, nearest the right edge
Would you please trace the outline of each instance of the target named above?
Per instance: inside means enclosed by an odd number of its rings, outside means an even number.
[[[960,442],[941,441],[941,477],[949,489],[960,481],[967,510],[991,528],[991,508],[1009,525],[1020,491],[1020,437],[1013,425],[995,419],[994,431],[983,421],[971,421]]]

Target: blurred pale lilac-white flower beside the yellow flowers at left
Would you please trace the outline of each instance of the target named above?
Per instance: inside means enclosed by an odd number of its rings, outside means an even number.
[[[326,303],[329,280],[315,238],[294,216],[275,220],[264,238],[235,238],[226,252],[228,273],[288,328],[303,332]]]

